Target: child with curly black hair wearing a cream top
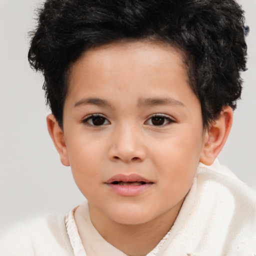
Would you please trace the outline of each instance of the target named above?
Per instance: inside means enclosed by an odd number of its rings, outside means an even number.
[[[47,0],[28,58],[88,202],[17,226],[0,255],[256,255],[254,194],[214,161],[243,27],[233,0]]]

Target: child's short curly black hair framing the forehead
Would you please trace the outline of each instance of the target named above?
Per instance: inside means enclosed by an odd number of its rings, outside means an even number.
[[[244,15],[235,0],[46,0],[28,59],[44,75],[46,101],[62,127],[68,69],[87,49],[149,39],[182,50],[207,126],[236,107],[246,70]]]

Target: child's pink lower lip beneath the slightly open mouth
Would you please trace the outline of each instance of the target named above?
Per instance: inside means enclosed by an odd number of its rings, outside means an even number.
[[[143,193],[149,187],[152,186],[153,183],[145,183],[142,185],[116,185],[112,183],[106,183],[110,189],[119,194],[124,196],[135,196]]]

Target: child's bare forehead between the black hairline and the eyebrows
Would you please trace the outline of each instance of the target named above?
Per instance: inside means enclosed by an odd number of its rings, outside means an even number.
[[[120,92],[140,99],[162,97],[166,87],[175,94],[190,90],[186,70],[183,53],[164,42],[114,42],[85,51],[72,64],[66,99],[77,102],[82,94],[104,98],[106,93],[115,99]]]

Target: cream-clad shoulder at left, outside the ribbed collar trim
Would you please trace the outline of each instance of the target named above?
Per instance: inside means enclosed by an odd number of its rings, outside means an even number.
[[[0,237],[0,255],[73,255],[64,216],[43,216],[11,226]]]

